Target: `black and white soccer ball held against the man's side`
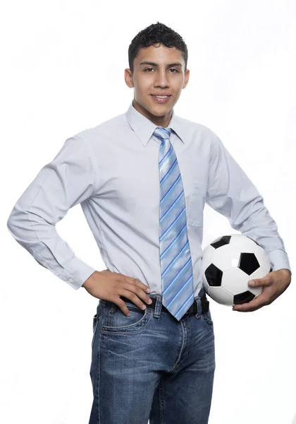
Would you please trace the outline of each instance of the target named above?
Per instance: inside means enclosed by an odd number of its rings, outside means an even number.
[[[249,280],[272,271],[263,247],[242,234],[223,235],[203,250],[202,284],[206,294],[221,305],[240,305],[257,298],[262,286]]]

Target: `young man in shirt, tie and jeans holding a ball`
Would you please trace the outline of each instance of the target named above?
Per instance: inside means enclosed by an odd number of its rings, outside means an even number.
[[[190,74],[182,37],[156,23],[128,53],[127,112],[67,139],[18,199],[8,228],[40,264],[99,299],[90,424],[206,424],[215,348],[200,269],[204,203],[271,259],[273,271],[257,280],[264,292],[236,310],[275,300],[290,284],[290,264],[261,195],[218,136],[173,111]],[[76,204],[104,271],[56,232]]]

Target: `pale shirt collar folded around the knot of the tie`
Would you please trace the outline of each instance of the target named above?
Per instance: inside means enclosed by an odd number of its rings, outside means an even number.
[[[130,103],[130,107],[125,113],[125,117],[128,121],[128,124],[130,124],[133,131],[135,131],[135,134],[137,134],[137,137],[140,139],[140,141],[142,141],[142,144],[146,146],[155,129],[159,125],[154,124],[152,121],[150,121],[150,119],[144,117],[142,113],[138,112],[135,107],[132,106],[132,102]],[[183,123],[180,122],[178,117],[175,115],[174,110],[168,126],[175,132],[175,134],[177,134],[179,139],[185,143],[185,128]]]

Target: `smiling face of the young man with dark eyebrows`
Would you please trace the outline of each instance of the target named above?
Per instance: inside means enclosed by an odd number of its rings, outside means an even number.
[[[187,86],[189,72],[185,72],[182,52],[175,47],[160,44],[140,49],[134,60],[134,72],[125,69],[124,75],[126,85],[134,88],[132,106],[157,126],[168,126],[181,90]],[[159,93],[170,97],[159,102],[153,96]]]

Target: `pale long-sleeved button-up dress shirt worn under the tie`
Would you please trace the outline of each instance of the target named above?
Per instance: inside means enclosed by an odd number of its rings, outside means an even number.
[[[273,271],[290,269],[276,222],[221,139],[174,111],[168,127],[183,181],[195,296],[202,288],[205,202],[266,250]],[[131,102],[127,112],[68,138],[13,207],[7,221],[11,235],[72,288],[97,271],[56,231],[56,223],[80,204],[106,268],[138,278],[151,294],[161,295],[161,141],[155,129]]]

